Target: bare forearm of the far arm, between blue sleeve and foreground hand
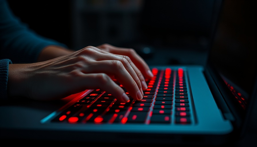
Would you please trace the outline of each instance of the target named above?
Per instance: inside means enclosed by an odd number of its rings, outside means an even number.
[[[70,53],[73,53],[73,52],[74,51],[71,49],[66,49],[60,46],[49,45],[45,47],[39,54],[38,62],[50,60],[63,55],[69,55]]]

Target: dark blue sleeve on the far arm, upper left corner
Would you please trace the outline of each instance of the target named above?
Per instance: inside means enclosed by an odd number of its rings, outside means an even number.
[[[0,59],[10,59],[12,63],[36,62],[39,53],[48,45],[67,48],[30,30],[13,15],[7,1],[0,0]]]

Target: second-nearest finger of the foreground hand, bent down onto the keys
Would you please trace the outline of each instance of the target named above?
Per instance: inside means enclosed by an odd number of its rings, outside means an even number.
[[[118,80],[120,84],[129,92],[130,96],[135,100],[143,98],[142,89],[137,86],[137,83],[126,70],[121,61],[118,60],[102,60],[91,62],[87,70],[83,73],[106,73]],[[111,78],[110,78],[111,79]],[[139,81],[139,79],[138,79]]]

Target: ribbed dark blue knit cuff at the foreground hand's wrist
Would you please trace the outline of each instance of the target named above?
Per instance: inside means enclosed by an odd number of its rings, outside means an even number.
[[[0,99],[7,99],[7,80],[9,72],[9,64],[12,64],[9,59],[0,60]]]

